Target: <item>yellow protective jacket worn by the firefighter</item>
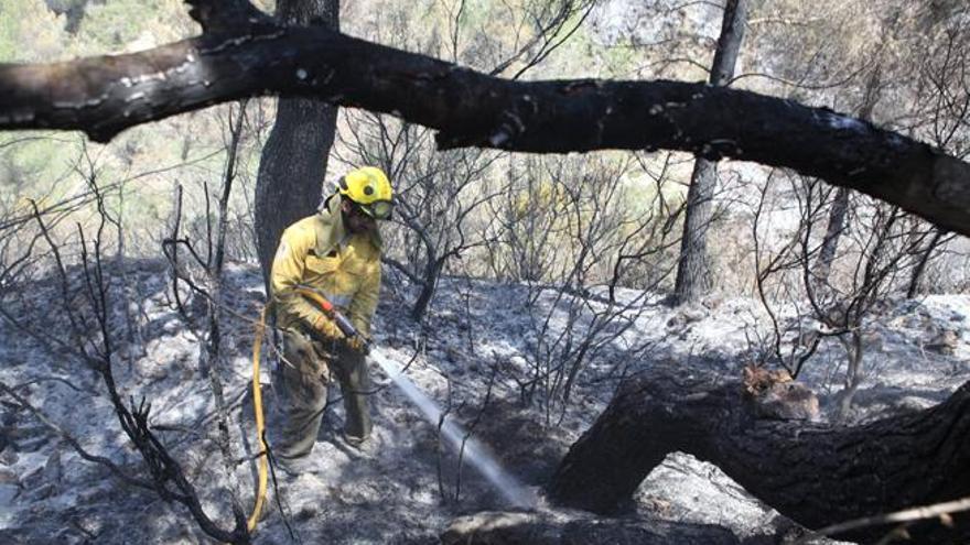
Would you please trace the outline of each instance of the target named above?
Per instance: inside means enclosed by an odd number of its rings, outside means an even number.
[[[277,325],[340,335],[319,307],[293,291],[302,284],[323,292],[358,331],[370,335],[380,291],[380,249],[377,231],[352,235],[344,228],[340,195],[330,197],[320,214],[291,225],[280,238],[270,274]]]

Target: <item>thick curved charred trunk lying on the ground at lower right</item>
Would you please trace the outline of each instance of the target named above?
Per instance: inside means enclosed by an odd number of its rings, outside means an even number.
[[[608,513],[671,451],[720,467],[782,514],[819,528],[970,495],[970,382],[945,403],[865,426],[758,418],[737,385],[710,377],[626,382],[550,484],[559,503]],[[909,528],[916,543],[967,543],[970,516]],[[873,527],[841,537],[872,542]]]

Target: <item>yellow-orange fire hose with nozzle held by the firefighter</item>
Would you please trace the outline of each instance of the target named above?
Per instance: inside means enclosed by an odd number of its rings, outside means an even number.
[[[305,286],[297,286],[294,290],[300,295],[310,298],[327,315],[341,331],[346,337],[355,337],[358,331],[354,328],[349,320],[347,320],[344,315],[338,313],[336,308],[331,304],[330,301],[326,299],[319,291],[313,290],[312,287]],[[266,430],[266,423],[262,418],[262,393],[260,391],[259,385],[259,356],[262,348],[262,339],[266,336],[266,314],[269,308],[269,303],[262,307],[262,313],[259,316],[259,323],[256,325],[256,336],[252,342],[252,411],[256,413],[256,434],[259,437],[259,476],[257,480],[256,487],[256,503],[252,506],[252,514],[249,515],[249,520],[247,521],[246,526],[249,528],[249,532],[256,530],[256,524],[259,522],[259,515],[262,511],[262,504],[266,499],[266,484],[268,480],[269,472],[269,457],[266,446],[266,439],[263,438]]]

